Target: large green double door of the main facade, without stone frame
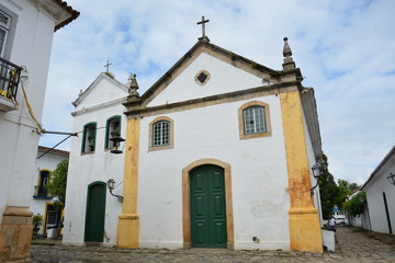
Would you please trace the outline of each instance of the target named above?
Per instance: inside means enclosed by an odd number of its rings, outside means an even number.
[[[224,169],[202,165],[190,174],[193,248],[226,248]]]

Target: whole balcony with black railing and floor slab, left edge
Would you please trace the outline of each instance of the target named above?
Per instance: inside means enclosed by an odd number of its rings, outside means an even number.
[[[0,111],[18,108],[16,92],[22,68],[0,57]]]

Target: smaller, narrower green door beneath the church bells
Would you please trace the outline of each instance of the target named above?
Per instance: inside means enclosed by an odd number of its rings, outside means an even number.
[[[88,186],[86,242],[103,242],[105,214],[105,183],[94,182]]]

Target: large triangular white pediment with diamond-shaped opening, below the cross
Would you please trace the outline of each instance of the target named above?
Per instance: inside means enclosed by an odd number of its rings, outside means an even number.
[[[198,42],[142,96],[158,106],[268,84],[279,72],[242,56]]]

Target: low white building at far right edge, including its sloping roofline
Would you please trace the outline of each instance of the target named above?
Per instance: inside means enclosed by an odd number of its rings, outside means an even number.
[[[372,231],[395,232],[395,185],[391,175],[395,176],[395,146],[361,187],[368,199],[368,210],[363,216],[370,219],[369,224],[364,222],[364,228]]]

